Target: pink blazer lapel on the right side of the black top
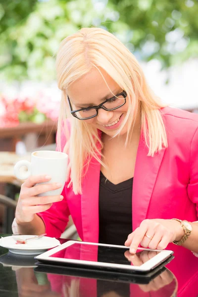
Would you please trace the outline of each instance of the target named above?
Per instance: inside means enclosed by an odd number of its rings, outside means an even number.
[[[153,157],[147,156],[148,148],[143,136],[140,138],[133,180],[132,194],[132,221],[133,231],[147,218],[147,211],[155,185],[159,167],[165,148],[155,153]]]

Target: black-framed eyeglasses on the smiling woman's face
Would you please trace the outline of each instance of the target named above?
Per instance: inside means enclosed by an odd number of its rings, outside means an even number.
[[[68,98],[71,114],[79,120],[88,120],[98,115],[99,108],[103,108],[104,110],[111,111],[115,110],[126,103],[127,93],[123,90],[121,93],[113,96],[104,102],[100,103],[97,106],[85,107],[77,110],[72,109],[72,105]]]

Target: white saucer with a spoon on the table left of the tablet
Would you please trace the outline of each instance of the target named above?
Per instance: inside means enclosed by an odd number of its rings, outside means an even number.
[[[36,255],[41,254],[49,248],[60,246],[60,242],[51,237],[44,236],[39,239],[32,239],[26,244],[17,244],[14,237],[27,239],[34,235],[16,235],[1,237],[0,246],[8,248],[10,252],[21,255]]]

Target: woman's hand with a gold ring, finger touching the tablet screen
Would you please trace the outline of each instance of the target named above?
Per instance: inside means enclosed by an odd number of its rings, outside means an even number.
[[[176,220],[147,219],[129,234],[125,246],[130,246],[131,253],[136,253],[140,244],[151,249],[164,249],[169,243],[179,241],[183,236],[184,230]]]

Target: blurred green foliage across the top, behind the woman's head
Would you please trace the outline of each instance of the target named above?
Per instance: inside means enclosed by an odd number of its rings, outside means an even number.
[[[196,0],[1,0],[0,78],[54,79],[61,40],[90,26],[162,67],[198,56]]]

